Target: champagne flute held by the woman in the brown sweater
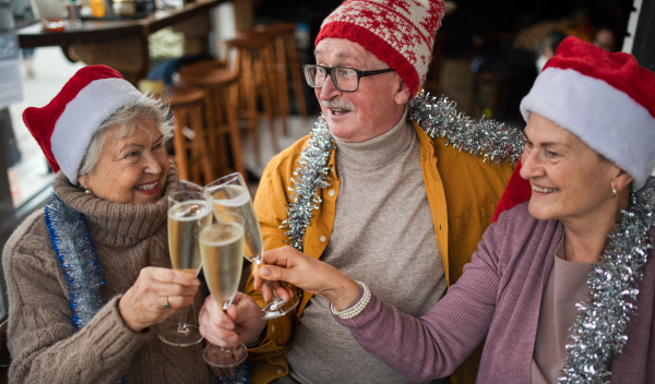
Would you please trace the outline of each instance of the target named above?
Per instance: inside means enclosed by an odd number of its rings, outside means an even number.
[[[198,275],[201,266],[198,235],[212,224],[212,203],[201,192],[180,191],[168,196],[168,252],[172,268]],[[182,308],[177,325],[163,327],[159,338],[171,346],[187,347],[202,341],[195,325],[187,324]]]

